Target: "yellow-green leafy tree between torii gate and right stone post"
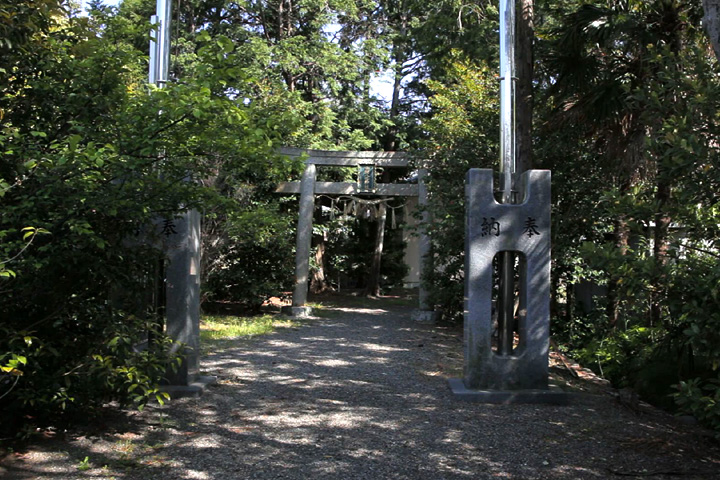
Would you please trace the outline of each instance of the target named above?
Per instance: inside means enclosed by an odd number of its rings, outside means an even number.
[[[425,123],[428,139],[418,156],[427,158],[432,199],[429,228],[435,270],[428,278],[429,301],[446,319],[459,320],[463,305],[464,180],[469,168],[491,168],[498,152],[498,85],[485,66],[456,55],[447,83],[428,82],[434,115]]]

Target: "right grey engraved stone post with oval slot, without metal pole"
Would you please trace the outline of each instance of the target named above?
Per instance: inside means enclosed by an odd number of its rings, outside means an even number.
[[[493,172],[472,169],[466,184],[464,372],[450,380],[460,398],[487,403],[562,403],[548,387],[550,334],[550,172],[522,176],[523,199],[501,204]],[[493,349],[493,259],[519,259],[518,342]],[[496,305],[497,308],[497,305]]]

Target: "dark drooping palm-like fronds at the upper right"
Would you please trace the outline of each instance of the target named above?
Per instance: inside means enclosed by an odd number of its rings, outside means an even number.
[[[552,34],[554,120],[593,135],[625,186],[650,167],[642,154],[648,126],[632,94],[655,73],[651,46],[678,43],[692,8],[679,0],[585,4]]]

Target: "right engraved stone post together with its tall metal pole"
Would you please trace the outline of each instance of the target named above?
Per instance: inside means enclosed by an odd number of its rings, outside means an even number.
[[[468,172],[465,366],[450,387],[477,402],[565,403],[567,395],[548,385],[550,172],[517,175],[515,80],[515,1],[500,0],[500,201],[492,170]]]

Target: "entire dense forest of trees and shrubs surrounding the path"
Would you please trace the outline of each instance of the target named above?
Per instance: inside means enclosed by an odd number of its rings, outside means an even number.
[[[87,15],[68,0],[0,0],[8,430],[163,400],[173,359],[134,348],[162,332],[129,301],[157,277],[147,225],[158,218],[204,213],[207,299],[251,308],[289,289],[296,200],[273,192],[301,165],[279,146],[406,150],[427,168],[431,301],[461,321],[463,180],[498,158],[495,2],[173,3],[171,81],[157,89],[146,80],[154,0],[93,1]],[[553,174],[555,342],[720,429],[712,18],[689,0],[517,5],[518,149],[523,168]],[[372,93],[379,75],[389,101]],[[328,268],[361,278],[372,228],[318,216]],[[400,258],[385,260],[388,284]],[[580,294],[589,286],[594,302]]]

